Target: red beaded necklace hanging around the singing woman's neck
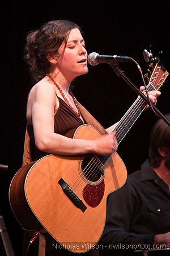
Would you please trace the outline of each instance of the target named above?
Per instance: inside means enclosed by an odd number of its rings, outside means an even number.
[[[46,74],[46,76],[48,76],[49,79],[52,80],[52,82],[54,83],[54,85],[57,87],[57,89],[58,89],[59,92],[61,93],[61,96],[63,97],[63,100],[66,102],[67,106],[69,106],[70,109],[72,109],[72,110],[80,117],[80,116],[81,116],[81,114],[80,114],[80,109],[79,109],[79,106],[78,106],[78,104],[77,104],[77,102],[76,102],[76,100],[75,100],[75,97],[74,97],[73,93],[71,92],[71,89],[69,89],[69,93],[70,93],[71,97],[73,98],[73,101],[74,101],[74,104],[75,104],[75,106],[76,106],[76,108],[77,108],[77,110],[78,110],[78,113],[77,113],[76,110],[73,108],[73,106],[71,106],[70,102],[67,100],[67,98],[66,98],[65,94],[63,93],[62,89],[59,87],[59,85],[58,85],[57,82],[53,79],[53,77],[50,76],[49,74]]]

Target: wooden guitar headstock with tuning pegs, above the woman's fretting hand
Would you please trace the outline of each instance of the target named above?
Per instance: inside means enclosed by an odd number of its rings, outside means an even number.
[[[149,82],[152,84],[152,86],[154,86],[156,90],[159,90],[168,75],[169,73],[164,71],[162,65],[156,63],[154,70],[151,73]]]

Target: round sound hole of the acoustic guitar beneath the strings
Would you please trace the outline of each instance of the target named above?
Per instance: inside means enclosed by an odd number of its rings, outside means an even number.
[[[87,156],[82,161],[82,172],[87,180],[96,182],[104,175],[104,168],[95,156]]]

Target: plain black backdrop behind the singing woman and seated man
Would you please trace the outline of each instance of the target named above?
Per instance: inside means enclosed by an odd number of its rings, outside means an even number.
[[[0,164],[8,166],[1,175],[1,214],[15,254],[22,255],[22,228],[8,203],[8,187],[22,166],[25,110],[27,95],[32,87],[23,62],[25,37],[52,19],[69,19],[84,31],[88,53],[123,55],[135,59],[147,72],[148,63],[143,50],[154,56],[163,50],[162,63],[169,64],[169,1],[11,1],[2,9],[1,56],[3,61],[1,85],[1,156]],[[125,74],[141,86],[142,79],[134,63],[121,63]],[[137,93],[114,73],[108,64],[89,65],[86,76],[78,77],[73,90],[76,98],[105,127],[117,122],[137,98]],[[169,110],[170,76],[162,87],[157,108],[163,114]],[[142,113],[118,147],[128,174],[137,170],[148,155],[148,138],[158,119],[151,109]],[[4,254],[0,244],[1,255]]]

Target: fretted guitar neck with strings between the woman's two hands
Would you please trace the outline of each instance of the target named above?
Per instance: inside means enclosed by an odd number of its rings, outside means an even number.
[[[155,90],[152,84],[147,85],[147,90]],[[113,131],[116,131],[117,144],[120,144],[122,139],[128,133],[130,128],[134,125],[135,121],[137,121],[138,117],[142,114],[143,110],[146,108],[146,102],[140,96],[135,100],[133,105],[129,108],[128,112],[121,118],[120,122],[118,122],[117,126]],[[112,132],[113,132],[112,131]]]

